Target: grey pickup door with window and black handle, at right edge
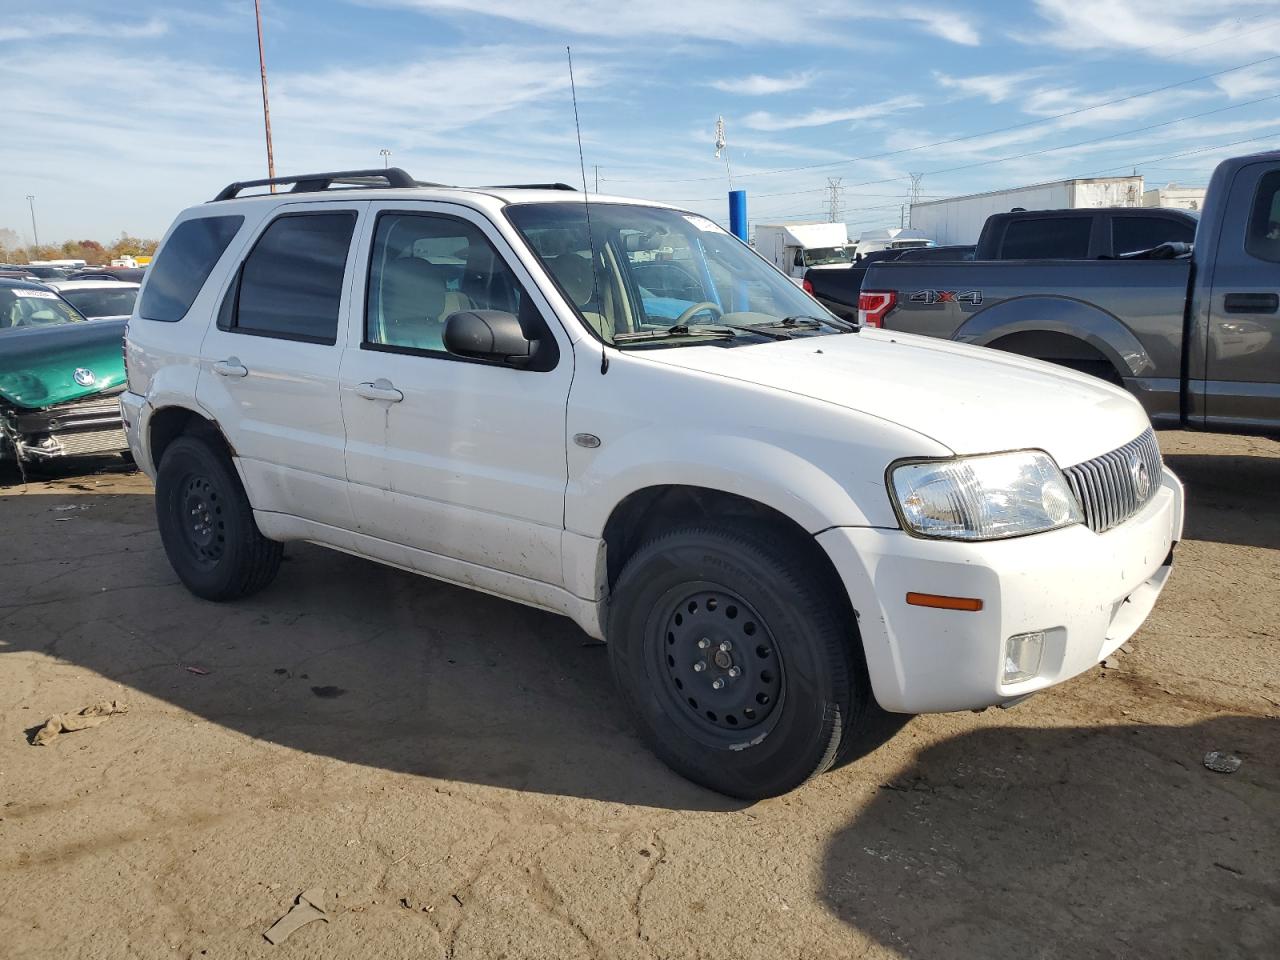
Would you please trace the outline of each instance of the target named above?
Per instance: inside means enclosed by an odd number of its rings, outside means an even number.
[[[1210,296],[1204,411],[1211,425],[1280,426],[1280,168],[1231,183]]]

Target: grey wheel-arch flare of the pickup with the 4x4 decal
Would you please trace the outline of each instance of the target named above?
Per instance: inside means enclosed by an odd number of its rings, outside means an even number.
[[[1121,376],[1149,376],[1156,370],[1147,349],[1119,319],[1070,297],[1028,296],[1001,301],[969,317],[952,339],[986,347],[1015,333],[1074,337],[1110,360]]]

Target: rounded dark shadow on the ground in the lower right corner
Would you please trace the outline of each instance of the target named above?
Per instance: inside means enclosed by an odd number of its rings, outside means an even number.
[[[911,960],[1275,956],[1277,791],[1276,719],[979,730],[836,835],[824,895]]]

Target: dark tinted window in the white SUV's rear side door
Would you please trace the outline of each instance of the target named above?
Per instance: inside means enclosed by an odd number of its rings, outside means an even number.
[[[233,329],[335,343],[356,214],[285,214],[244,260]]]

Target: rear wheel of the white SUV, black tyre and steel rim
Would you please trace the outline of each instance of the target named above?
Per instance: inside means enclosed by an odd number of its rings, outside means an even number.
[[[165,449],[156,521],[169,563],[196,596],[247,596],[280,568],[283,548],[259,531],[236,468],[198,436],[179,436]]]

